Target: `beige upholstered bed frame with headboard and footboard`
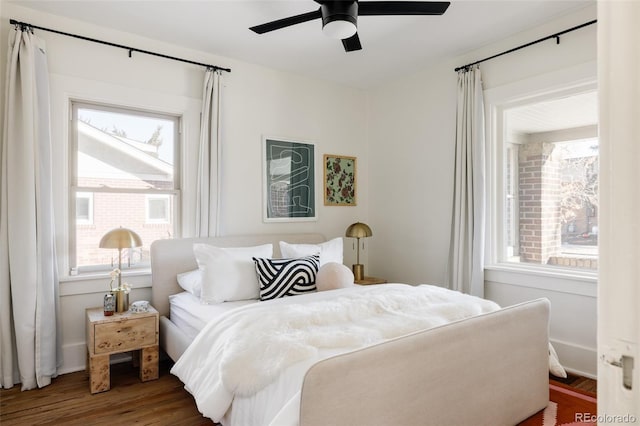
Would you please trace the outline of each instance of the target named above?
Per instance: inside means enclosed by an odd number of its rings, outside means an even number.
[[[177,360],[190,341],[169,319],[176,275],[197,267],[193,244],[317,244],[320,234],[159,240],[151,245],[160,346]],[[549,301],[534,300],[320,361],[307,372],[300,425],[514,425],[547,406]]]

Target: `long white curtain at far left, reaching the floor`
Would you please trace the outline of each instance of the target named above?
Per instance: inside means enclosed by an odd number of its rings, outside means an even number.
[[[49,82],[42,40],[9,37],[0,174],[1,386],[51,383],[61,364]]]

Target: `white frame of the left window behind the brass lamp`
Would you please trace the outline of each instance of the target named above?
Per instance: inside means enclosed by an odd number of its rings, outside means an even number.
[[[182,135],[182,115],[165,113],[160,111],[151,111],[148,109],[141,109],[130,107],[126,105],[115,105],[115,104],[106,104],[102,102],[96,102],[91,100],[82,100],[69,98],[69,136],[68,136],[68,146],[69,146],[69,155],[68,155],[68,191],[69,191],[69,203],[68,203],[68,215],[67,215],[67,223],[68,223],[68,249],[67,253],[69,255],[68,258],[68,271],[69,275],[82,275],[85,273],[93,273],[99,271],[108,271],[113,268],[111,264],[99,264],[99,265],[85,265],[78,267],[77,266],[77,250],[76,250],[76,194],[78,193],[140,193],[140,194],[153,194],[153,195],[166,195],[167,197],[174,197],[174,202],[172,206],[172,211],[169,212],[169,217],[173,217],[173,232],[176,237],[181,235],[181,187],[182,187],[182,158],[181,153],[183,151],[183,135]],[[78,166],[78,131],[77,131],[77,121],[78,121],[78,110],[82,108],[101,110],[106,112],[116,112],[116,113],[126,113],[129,115],[138,115],[140,117],[149,117],[149,118],[161,118],[163,120],[171,120],[174,122],[174,146],[173,146],[173,189],[171,190],[158,190],[158,189],[137,189],[137,188],[101,188],[101,187],[85,187],[79,186],[78,176],[77,176],[77,166]],[[170,207],[171,209],[171,207]],[[145,201],[145,219],[147,216],[147,206]],[[156,222],[157,223],[157,222]],[[168,223],[168,222],[162,222]],[[96,241],[96,245],[99,241]],[[132,249],[133,250],[133,249]],[[124,250],[123,250],[124,252]],[[127,270],[143,270],[149,268],[149,263],[140,262],[136,265],[126,266]],[[125,265],[122,265],[123,269]]]

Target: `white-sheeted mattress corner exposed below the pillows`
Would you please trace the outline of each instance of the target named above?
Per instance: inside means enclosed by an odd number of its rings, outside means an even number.
[[[207,323],[224,315],[225,312],[258,302],[258,300],[240,300],[206,305],[193,294],[184,291],[169,296],[169,315],[171,322],[190,340],[193,340]]]

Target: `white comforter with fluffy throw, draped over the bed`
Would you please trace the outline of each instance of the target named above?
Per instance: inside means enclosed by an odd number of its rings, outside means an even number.
[[[354,286],[277,299],[209,323],[171,372],[216,422],[295,424],[304,374],[318,360],[497,309],[428,285]]]

